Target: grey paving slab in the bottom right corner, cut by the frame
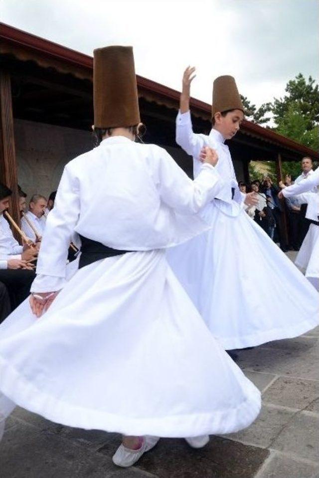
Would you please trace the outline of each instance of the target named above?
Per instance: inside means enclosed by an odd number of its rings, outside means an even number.
[[[294,460],[281,453],[271,455],[255,478],[315,478],[318,465]]]

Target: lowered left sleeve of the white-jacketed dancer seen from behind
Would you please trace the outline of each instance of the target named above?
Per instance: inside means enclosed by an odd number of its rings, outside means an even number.
[[[32,292],[51,292],[65,284],[68,249],[79,214],[78,181],[66,166],[56,193],[54,208],[46,221]]]

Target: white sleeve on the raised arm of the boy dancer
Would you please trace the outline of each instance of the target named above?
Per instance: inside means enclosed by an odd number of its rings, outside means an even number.
[[[200,150],[204,146],[203,139],[193,132],[190,111],[177,114],[176,117],[176,143],[188,155],[198,159]]]

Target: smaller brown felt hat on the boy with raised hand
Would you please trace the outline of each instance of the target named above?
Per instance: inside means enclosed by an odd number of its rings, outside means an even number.
[[[229,75],[218,76],[213,84],[212,117],[218,111],[242,110],[244,107],[240,99],[235,78]]]

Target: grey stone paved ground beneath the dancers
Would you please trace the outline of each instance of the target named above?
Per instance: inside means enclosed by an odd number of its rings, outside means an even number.
[[[0,478],[319,478],[318,359],[319,327],[240,351],[239,366],[263,394],[255,423],[201,450],[161,440],[129,470],[112,464],[118,435],[16,409],[0,445]]]

